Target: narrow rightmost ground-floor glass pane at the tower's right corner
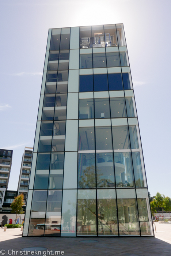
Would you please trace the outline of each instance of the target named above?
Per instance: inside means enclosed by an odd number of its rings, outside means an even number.
[[[150,236],[150,227],[147,211],[147,202],[145,198],[137,199],[138,203],[138,214],[140,220],[141,236]]]

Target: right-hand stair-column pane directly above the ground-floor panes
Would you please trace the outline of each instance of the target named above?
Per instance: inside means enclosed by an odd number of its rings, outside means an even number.
[[[63,172],[64,153],[52,153],[50,160],[49,188],[62,188]]]

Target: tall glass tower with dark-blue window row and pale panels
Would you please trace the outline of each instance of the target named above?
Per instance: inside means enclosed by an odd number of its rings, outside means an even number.
[[[49,29],[23,236],[153,236],[123,24]]]

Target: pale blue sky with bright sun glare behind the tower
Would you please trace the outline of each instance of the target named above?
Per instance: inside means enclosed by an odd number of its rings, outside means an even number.
[[[149,192],[171,197],[170,0],[5,0],[0,17],[0,148],[13,150],[17,190],[33,147],[49,28],[123,23]]]

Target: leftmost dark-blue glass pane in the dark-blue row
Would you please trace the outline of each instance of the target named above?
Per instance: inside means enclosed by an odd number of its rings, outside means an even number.
[[[93,91],[93,75],[80,76],[80,89],[79,91]]]

